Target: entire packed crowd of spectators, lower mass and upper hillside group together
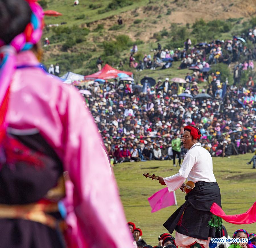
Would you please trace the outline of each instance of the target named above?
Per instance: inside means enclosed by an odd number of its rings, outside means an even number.
[[[106,80],[103,84],[91,81],[82,87],[78,84],[77,87],[91,93],[84,95],[86,105],[102,134],[111,164],[174,159],[176,166],[177,155],[177,165],[180,165],[186,151],[182,143],[177,151],[172,140],[176,136],[181,138],[186,125],[199,128],[201,145],[212,156],[230,157],[254,152],[256,85],[252,77],[247,82],[240,82],[240,79],[243,70],[253,72],[252,59],[256,58],[256,47],[251,51],[241,39],[251,40],[255,45],[255,32],[256,28],[232,40],[195,46],[187,39],[184,49],[175,51],[166,51],[158,43],[153,61],[145,54],[143,61],[136,65],[143,70],[152,68],[150,64],[155,68],[158,59],[167,58],[166,64],[169,59],[181,60],[180,69],[194,67],[193,73],[184,77],[185,84],[170,82],[169,78],[164,82],[158,80],[155,85],[148,80],[141,85],[117,79]],[[137,51],[134,45],[130,57],[132,66]],[[241,62],[240,57],[246,56],[247,60]],[[234,84],[229,84],[221,71],[209,73],[212,63],[226,59],[228,63],[238,61],[234,68]],[[99,58],[97,66],[101,67],[102,62]],[[181,93],[186,94],[181,97]],[[199,97],[199,93],[204,93],[204,97]]]

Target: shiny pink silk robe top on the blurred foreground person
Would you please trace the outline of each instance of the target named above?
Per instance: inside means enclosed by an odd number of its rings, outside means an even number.
[[[17,65],[37,64],[32,51],[17,55]],[[133,247],[102,139],[75,88],[40,68],[17,69],[6,121],[20,133],[38,130],[69,172],[73,247]]]

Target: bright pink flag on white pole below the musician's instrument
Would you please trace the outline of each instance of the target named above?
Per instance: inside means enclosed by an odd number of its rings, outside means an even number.
[[[177,205],[175,192],[168,191],[168,188],[163,188],[148,198],[148,202],[151,206],[151,213],[168,206]]]

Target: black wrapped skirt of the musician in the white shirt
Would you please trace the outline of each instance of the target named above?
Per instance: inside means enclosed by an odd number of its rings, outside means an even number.
[[[196,182],[195,188],[186,194],[185,200],[163,226],[171,234],[176,230],[180,234],[197,239],[222,237],[222,230],[212,228],[208,224],[212,218],[212,203],[216,202],[221,207],[220,188],[217,182]]]

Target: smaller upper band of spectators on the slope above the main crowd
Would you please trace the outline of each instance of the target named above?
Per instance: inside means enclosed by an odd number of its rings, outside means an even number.
[[[172,66],[173,61],[181,61],[178,69],[185,69],[190,66],[198,66],[200,69],[208,68],[210,64],[242,61],[242,70],[247,70],[249,66],[253,69],[253,60],[256,59],[256,47],[250,48],[246,45],[246,41],[256,44],[256,27],[249,29],[247,34],[241,37],[233,36],[229,40],[212,40],[209,43],[198,43],[192,46],[191,40],[184,42],[183,48],[174,50],[163,49],[158,43],[158,47],[153,49],[154,55],[145,54],[143,60],[135,61],[135,54],[138,52],[137,45],[133,45],[130,55],[130,67],[137,70],[151,69],[157,67],[167,69]]]

